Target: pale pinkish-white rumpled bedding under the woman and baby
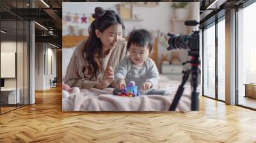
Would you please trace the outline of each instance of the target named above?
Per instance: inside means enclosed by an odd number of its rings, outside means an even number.
[[[137,97],[112,95],[113,88],[80,90],[78,87],[74,87],[71,93],[62,91],[62,109],[76,111],[167,111],[179,85],[180,81],[170,81],[162,76],[159,81],[159,89],[166,89],[170,95],[140,95]],[[176,110],[191,110],[190,89],[191,87],[187,84]]]

